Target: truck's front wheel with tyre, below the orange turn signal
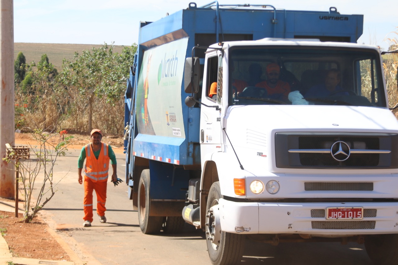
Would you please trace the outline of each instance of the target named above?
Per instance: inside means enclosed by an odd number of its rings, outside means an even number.
[[[211,185],[206,205],[206,243],[211,262],[215,265],[235,264],[242,259],[245,235],[221,231],[219,199],[220,183]]]

